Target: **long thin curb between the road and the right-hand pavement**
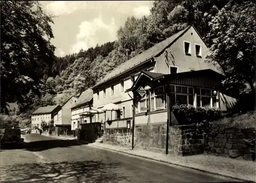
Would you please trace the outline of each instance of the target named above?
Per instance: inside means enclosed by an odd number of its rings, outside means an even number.
[[[80,143],[80,142],[78,142],[78,143]],[[197,170],[197,171],[204,172],[204,173],[214,174],[214,175],[218,175],[218,176],[222,176],[222,177],[226,177],[226,178],[232,178],[232,179],[238,180],[238,181],[254,182],[253,180],[248,180],[248,179],[239,178],[239,177],[233,177],[233,176],[230,176],[230,175],[211,172],[211,171],[207,171],[207,170],[203,170],[203,169],[199,169],[199,168],[195,168],[195,167],[189,167],[189,166],[186,166],[186,165],[179,165],[179,164],[176,164],[176,163],[170,163],[170,162],[167,162],[167,161],[163,161],[161,159],[154,159],[152,157],[147,157],[147,156],[143,156],[143,155],[139,155],[139,154],[133,154],[133,153],[130,153],[130,152],[125,152],[123,150],[116,150],[116,149],[110,149],[110,148],[105,148],[105,147],[99,147],[99,146],[96,146],[96,145],[93,145],[93,144],[88,144],[88,145],[96,147],[96,148],[100,148],[100,149],[105,149],[105,150],[109,150],[109,151],[116,151],[116,152],[119,152],[119,153],[124,153],[124,154],[129,154],[129,155],[132,155],[132,156],[137,156],[137,157],[141,157],[141,158],[145,158],[145,159],[150,159],[150,160],[153,160],[153,161],[156,161],[156,162],[166,163],[166,164],[169,164],[169,165],[176,165],[176,166],[179,166],[179,167],[189,168],[189,169]]]

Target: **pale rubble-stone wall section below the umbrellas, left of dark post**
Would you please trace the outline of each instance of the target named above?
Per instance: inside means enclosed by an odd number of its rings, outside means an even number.
[[[132,128],[106,129],[103,143],[132,147]]]

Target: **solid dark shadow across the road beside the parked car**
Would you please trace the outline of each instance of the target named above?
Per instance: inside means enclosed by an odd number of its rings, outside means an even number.
[[[87,143],[83,143],[87,144]],[[79,146],[80,143],[76,142],[76,140],[44,140],[44,141],[33,141],[24,143],[23,145],[5,145],[1,147],[1,149],[24,149],[28,151],[44,151],[47,149],[53,149],[57,147],[71,147],[71,146]]]

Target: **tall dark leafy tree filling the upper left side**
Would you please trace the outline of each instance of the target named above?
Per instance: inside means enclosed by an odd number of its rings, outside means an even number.
[[[50,75],[55,49],[50,23],[52,16],[37,1],[1,1],[2,112],[6,102],[22,103],[24,95],[38,91],[40,79]]]

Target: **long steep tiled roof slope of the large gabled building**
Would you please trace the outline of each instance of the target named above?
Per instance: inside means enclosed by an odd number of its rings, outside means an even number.
[[[174,34],[173,36],[170,36],[169,38],[163,40],[162,42],[159,42],[159,43],[155,44],[150,49],[148,49],[148,50],[142,52],[141,54],[131,58],[130,60],[127,60],[127,61],[123,62],[118,67],[116,67],[111,73],[107,74],[96,85],[94,85],[93,88],[98,86],[101,83],[104,83],[104,82],[118,76],[119,74],[123,73],[124,71],[127,71],[130,68],[133,68],[136,65],[155,57],[160,52],[162,52],[166,47],[168,47],[169,44],[173,43],[180,35],[182,35],[184,32],[186,32],[189,28],[190,28],[190,26],[188,26],[187,28],[183,29],[182,31]]]

